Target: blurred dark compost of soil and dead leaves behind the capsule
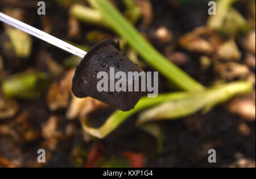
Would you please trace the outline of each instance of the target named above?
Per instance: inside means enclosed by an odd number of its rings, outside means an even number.
[[[38,15],[36,1],[1,0],[0,11],[84,51],[104,39],[119,41],[144,71],[158,70],[133,47],[138,39],[127,39],[103,18],[97,1],[44,1],[46,15]],[[246,80],[253,89],[175,120],[146,118],[152,122],[138,125],[143,110],[160,116],[157,109],[138,110],[106,135],[92,135],[84,122],[100,127],[116,109],[72,94],[81,59],[0,23],[0,167],[255,167],[255,1],[216,1],[222,13],[215,16],[208,14],[208,1],[106,2],[202,85]],[[179,91],[164,68],[159,94]],[[38,163],[39,149],[46,163]],[[217,163],[208,162],[209,149],[216,150]]]

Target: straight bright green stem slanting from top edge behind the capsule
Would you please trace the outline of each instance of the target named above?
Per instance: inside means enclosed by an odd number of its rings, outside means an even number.
[[[202,90],[204,87],[172,64],[159,53],[133,25],[108,0],[89,0],[93,7],[100,11],[102,18],[113,28],[117,34],[127,39],[128,43],[152,67],[163,74],[169,81],[181,90]]]

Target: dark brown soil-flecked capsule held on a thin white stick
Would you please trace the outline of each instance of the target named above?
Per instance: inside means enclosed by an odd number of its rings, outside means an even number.
[[[145,92],[128,91],[128,80],[126,80],[126,91],[110,91],[110,67],[114,67],[114,73],[124,72],[127,78],[128,72],[143,72],[137,64],[121,53],[118,43],[113,40],[103,40],[92,47],[77,66],[72,81],[73,94],[78,98],[93,97],[119,110],[129,111]],[[97,79],[99,72],[108,73],[108,91],[97,90],[97,84],[101,80]],[[114,83],[118,80],[114,79]],[[139,84],[141,85],[141,79]],[[141,90],[141,86],[139,89]]]

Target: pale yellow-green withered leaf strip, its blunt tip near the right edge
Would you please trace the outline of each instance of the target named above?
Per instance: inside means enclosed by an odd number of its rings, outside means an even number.
[[[234,95],[249,93],[252,88],[253,86],[249,82],[241,81],[190,94],[184,99],[168,101],[144,111],[139,115],[138,124],[152,120],[182,118],[194,114],[199,110],[207,113],[214,106],[228,101]]]

